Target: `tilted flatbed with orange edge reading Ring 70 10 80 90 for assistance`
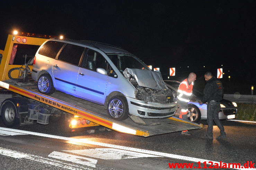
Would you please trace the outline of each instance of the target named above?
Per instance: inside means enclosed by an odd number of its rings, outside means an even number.
[[[60,91],[44,95],[37,91],[36,83],[19,83],[14,80],[0,81],[0,87],[21,94],[36,101],[48,104],[65,112],[75,114],[84,119],[100,124],[116,131],[138,136],[152,136],[182,130],[201,129],[202,124],[193,123],[176,117],[166,119],[143,119],[147,125],[140,125],[127,118],[116,121],[108,117],[104,106],[95,104]]]

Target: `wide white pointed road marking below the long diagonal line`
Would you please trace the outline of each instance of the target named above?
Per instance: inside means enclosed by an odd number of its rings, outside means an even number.
[[[95,148],[84,150],[63,150],[65,152],[76,153],[100,159],[131,159],[144,157],[160,157],[152,154],[138,153],[114,148]]]

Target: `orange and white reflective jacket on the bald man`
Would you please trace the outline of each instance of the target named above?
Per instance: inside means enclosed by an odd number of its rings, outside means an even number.
[[[187,79],[183,80],[179,84],[179,88],[177,91],[177,98],[181,101],[189,102],[189,97],[192,95],[194,83],[191,82],[190,85],[187,82]]]

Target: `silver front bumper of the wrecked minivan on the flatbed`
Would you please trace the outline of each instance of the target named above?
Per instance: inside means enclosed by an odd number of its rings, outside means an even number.
[[[129,106],[129,113],[141,118],[169,118],[174,116],[178,107],[174,102],[170,104],[161,104],[153,102],[145,103],[144,101],[130,97],[126,97],[126,99]]]

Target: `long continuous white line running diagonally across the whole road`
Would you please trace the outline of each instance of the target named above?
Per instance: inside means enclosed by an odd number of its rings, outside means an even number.
[[[181,160],[192,161],[192,162],[198,162],[198,161],[200,161],[200,162],[204,162],[204,161],[209,162],[209,161],[211,161],[211,160],[205,160],[205,159],[193,158],[193,157],[186,157],[186,156],[181,156],[181,155],[176,155],[176,154],[171,154],[171,153],[163,153],[163,152],[150,151],[150,150],[145,150],[145,149],[124,147],[124,146],[119,146],[119,145],[114,145],[114,144],[89,141],[89,140],[86,140],[86,139],[75,139],[75,138],[68,138],[68,137],[62,137],[62,136],[55,136],[55,135],[51,135],[51,134],[29,132],[29,131],[24,131],[24,130],[9,129],[9,128],[2,128],[2,127],[0,127],[0,129],[1,130],[12,131],[12,132],[18,132],[18,133],[26,133],[26,134],[31,134],[31,135],[41,136],[41,137],[46,137],[46,138],[68,140],[70,142],[75,142],[75,143],[79,142],[79,143],[93,144],[93,145],[109,147],[109,148],[116,148],[116,149],[123,149],[123,150],[129,150],[129,151],[134,151],[134,152],[146,153],[146,154],[153,154],[153,155],[157,155],[157,156],[181,159]],[[213,164],[215,164],[215,163],[220,164],[220,162],[218,162],[218,161],[211,161],[211,162],[213,162]],[[222,162],[222,163],[224,163],[224,162]],[[239,169],[239,168],[233,168],[233,169]],[[243,170],[243,169],[241,169],[241,170]],[[251,170],[256,170],[256,168],[252,168]]]

